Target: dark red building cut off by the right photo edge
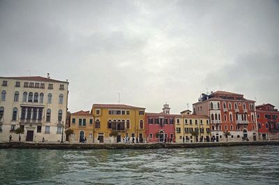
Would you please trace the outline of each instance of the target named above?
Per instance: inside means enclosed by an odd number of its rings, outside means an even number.
[[[256,106],[257,128],[262,140],[279,139],[279,112],[274,108],[275,106],[269,103]]]

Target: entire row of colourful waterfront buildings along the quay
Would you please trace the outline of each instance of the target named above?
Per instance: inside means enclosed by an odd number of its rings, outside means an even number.
[[[89,111],[68,112],[68,80],[0,77],[0,141],[11,135],[40,142],[226,142],[279,140],[278,110],[255,106],[243,94],[202,94],[191,110],[171,114],[121,104],[93,104]],[[68,130],[68,134],[63,129]]]

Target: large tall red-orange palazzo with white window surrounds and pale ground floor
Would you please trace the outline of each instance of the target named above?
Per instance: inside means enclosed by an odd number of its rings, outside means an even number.
[[[257,140],[255,101],[242,94],[227,91],[202,94],[199,102],[193,104],[193,112],[209,116],[211,135],[217,142]],[[230,135],[225,135],[226,131]]]

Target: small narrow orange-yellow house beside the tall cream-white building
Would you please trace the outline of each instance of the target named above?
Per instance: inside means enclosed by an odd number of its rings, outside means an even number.
[[[70,136],[70,142],[93,142],[93,121],[93,115],[89,111],[80,110],[71,114],[70,128],[74,133]]]

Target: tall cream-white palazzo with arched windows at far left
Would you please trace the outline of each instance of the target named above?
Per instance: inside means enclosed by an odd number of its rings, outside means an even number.
[[[22,141],[60,142],[66,123],[68,80],[47,77],[0,77],[0,142],[18,141],[15,129],[21,127]],[[65,140],[63,134],[63,140]]]

